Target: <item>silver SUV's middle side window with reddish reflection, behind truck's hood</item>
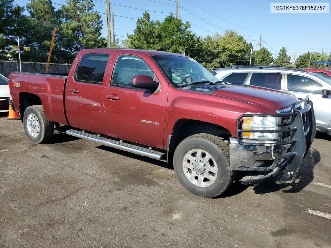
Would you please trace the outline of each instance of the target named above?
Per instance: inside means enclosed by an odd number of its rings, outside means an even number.
[[[254,72],[250,81],[250,85],[261,86],[275,90],[280,90],[281,84],[281,73]]]

